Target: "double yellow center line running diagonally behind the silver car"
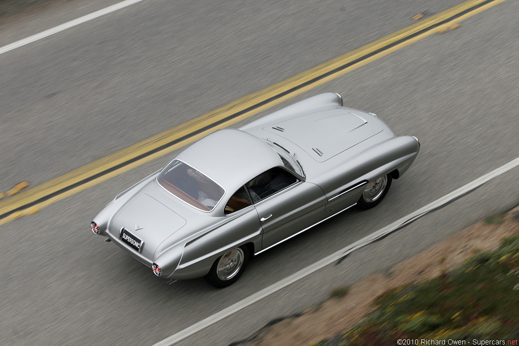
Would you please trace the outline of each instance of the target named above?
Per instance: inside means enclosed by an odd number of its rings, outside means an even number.
[[[29,190],[0,201],[0,225],[33,214],[108,178],[128,171],[201,137],[228,127],[296,95],[342,76],[356,68],[465,20],[504,0],[469,0],[389,36],[313,67],[275,85],[244,96],[209,113],[119,150]]]

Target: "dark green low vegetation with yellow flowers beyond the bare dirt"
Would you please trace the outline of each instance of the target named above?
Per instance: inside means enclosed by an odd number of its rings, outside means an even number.
[[[519,234],[495,251],[474,255],[438,278],[389,290],[375,310],[340,342],[391,345],[398,339],[515,340],[519,338]]]

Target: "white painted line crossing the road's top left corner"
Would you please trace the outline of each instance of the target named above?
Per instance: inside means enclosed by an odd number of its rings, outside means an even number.
[[[71,20],[70,22],[66,22],[66,23],[63,23],[61,25],[54,26],[51,29],[42,31],[42,32],[40,32],[38,34],[35,34],[35,35],[32,35],[32,36],[23,38],[21,40],[15,41],[15,42],[13,42],[11,44],[8,44],[6,46],[0,47],[0,54],[6,53],[6,52],[8,52],[10,50],[13,50],[13,49],[16,49],[16,48],[20,48],[20,47],[25,46],[25,45],[28,45],[30,43],[33,43],[34,41],[39,40],[39,39],[48,37],[50,35],[57,34],[57,33],[61,32],[61,31],[70,29],[73,26],[76,26],[76,25],[88,22],[89,20],[92,20],[92,19],[104,16],[104,15],[107,15],[108,13],[120,10],[121,8],[125,8],[127,6],[139,3],[141,1],[143,1],[143,0],[125,0],[125,1],[122,1],[122,2],[117,3],[115,5],[108,6],[106,8],[100,9],[98,11],[92,12],[89,15],[86,15],[86,16],[79,17],[77,19]]]

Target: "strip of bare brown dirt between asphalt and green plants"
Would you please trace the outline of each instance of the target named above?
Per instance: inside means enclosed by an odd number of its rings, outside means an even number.
[[[426,251],[400,262],[386,274],[370,275],[351,286],[344,297],[327,299],[320,306],[266,326],[247,345],[306,345],[344,333],[375,307],[375,298],[389,289],[435,278],[456,268],[476,253],[496,250],[503,238],[519,231],[519,207],[487,218]]]

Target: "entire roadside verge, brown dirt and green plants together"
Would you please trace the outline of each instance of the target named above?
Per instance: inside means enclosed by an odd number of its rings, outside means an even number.
[[[519,203],[391,268],[335,287],[327,299],[234,345],[385,346],[399,339],[518,344]]]

